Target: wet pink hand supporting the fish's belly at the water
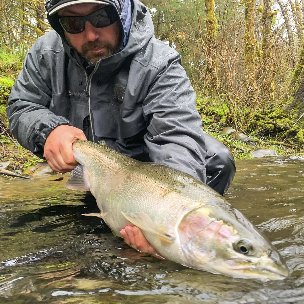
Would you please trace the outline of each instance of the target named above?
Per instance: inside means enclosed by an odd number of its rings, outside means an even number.
[[[120,230],[120,233],[123,236],[125,243],[132,248],[140,252],[149,253],[156,258],[165,259],[151,246],[138,227],[126,226],[126,228]]]

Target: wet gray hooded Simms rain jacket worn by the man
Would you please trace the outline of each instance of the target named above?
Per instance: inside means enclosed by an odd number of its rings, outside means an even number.
[[[121,13],[121,2],[107,1]],[[202,122],[181,56],[155,38],[147,8],[139,0],[131,4],[126,46],[91,74],[62,33],[37,39],[9,98],[10,129],[40,158],[50,132],[68,124],[91,141],[105,140],[132,158],[160,161],[206,182]]]

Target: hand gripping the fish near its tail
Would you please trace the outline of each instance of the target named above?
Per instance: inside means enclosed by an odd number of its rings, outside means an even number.
[[[68,125],[58,126],[49,134],[43,155],[53,170],[66,173],[78,165],[72,150],[76,139],[86,140],[86,136],[82,130]]]

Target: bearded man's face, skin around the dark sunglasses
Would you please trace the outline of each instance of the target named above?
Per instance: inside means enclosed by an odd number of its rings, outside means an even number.
[[[58,14],[60,17],[87,16],[103,7],[105,5],[102,4],[78,4],[63,8]],[[95,65],[98,60],[114,54],[119,48],[120,30],[117,21],[109,26],[96,28],[86,20],[81,33],[70,34],[66,30],[64,32],[69,45],[90,64]]]

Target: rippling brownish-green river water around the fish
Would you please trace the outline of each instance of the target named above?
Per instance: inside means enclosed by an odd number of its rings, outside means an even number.
[[[282,281],[233,279],[138,253],[86,192],[0,176],[0,303],[304,303],[304,161],[237,160],[226,198],[286,259]],[[57,176],[58,177],[58,176]]]

